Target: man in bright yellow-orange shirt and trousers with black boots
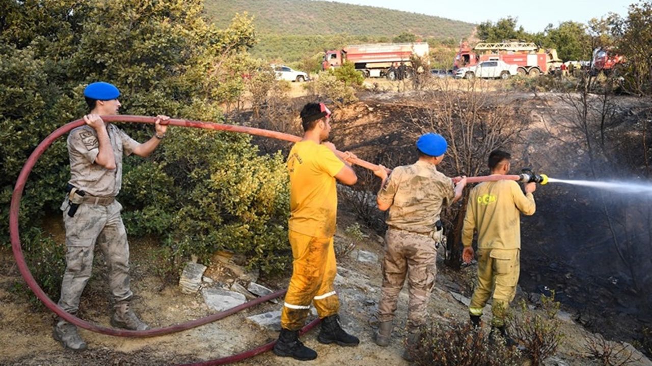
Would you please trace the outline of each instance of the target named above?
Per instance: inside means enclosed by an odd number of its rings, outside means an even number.
[[[346,333],[338,322],[340,302],[333,287],[336,275],[333,235],[337,214],[336,180],[357,182],[346,152],[346,160],[334,153],[332,143],[323,142],[331,131],[331,112],[322,104],[308,103],[301,111],[303,139],[288,156],[291,216],[288,222],[292,247],[292,277],[281,315],[281,331],[274,354],[302,361],[317,358],[317,352],[299,341],[310,303],[314,302],[321,331],[319,343],[357,346],[357,337]]]

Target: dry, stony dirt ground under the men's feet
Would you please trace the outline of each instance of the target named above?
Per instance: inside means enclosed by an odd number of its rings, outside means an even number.
[[[404,289],[398,303],[398,318],[392,343],[387,348],[376,346],[372,339],[373,315],[379,300],[381,272],[379,260],[382,257],[381,238],[363,228],[361,237],[355,229],[346,230],[355,223],[350,214],[340,210],[336,245],[346,248],[340,252],[336,287],[342,303],[342,324],[358,335],[361,345],[355,348],[321,345],[315,337],[317,330],[304,335],[306,345],[317,350],[319,365],[408,365],[400,357],[402,352],[402,331],[406,319],[408,292]],[[351,246],[353,244],[353,246]],[[179,286],[171,285],[160,290],[160,281],[152,274],[147,264],[147,242],[132,243],[133,287],[138,299],[136,311],[153,327],[168,326],[204,317],[211,310],[201,295],[184,294]],[[348,251],[348,249],[352,249]],[[348,253],[346,253],[348,251]],[[93,279],[83,296],[82,317],[99,324],[108,325],[110,304],[103,283],[104,268],[101,255],[97,260]],[[256,274],[229,270],[235,264],[216,261],[209,266],[205,277],[212,276],[213,283],[203,281],[201,287],[216,289],[231,287],[234,281],[246,285],[246,280],[255,279],[258,283],[273,289],[282,289],[288,276],[282,278],[256,278]],[[25,300],[24,294],[17,294],[12,288],[22,279],[13,263],[13,257],[6,249],[1,257],[0,277],[0,365],[173,365],[198,363],[209,359],[230,356],[249,348],[263,345],[278,336],[271,328],[262,327],[246,319],[268,311],[279,311],[280,304],[264,303],[213,324],[162,337],[147,339],[127,339],[91,333],[82,330],[82,337],[89,343],[89,350],[72,352],[64,350],[51,336],[53,315],[43,309],[36,309],[33,303]],[[467,279],[473,274],[473,267],[459,273],[450,272],[439,260],[437,286],[430,302],[430,315],[436,322],[466,319],[464,302],[467,298]],[[213,278],[215,277],[215,278]],[[210,280],[209,280],[210,281]],[[529,294],[520,292],[520,296]],[[576,324],[573,316],[561,313],[560,319],[565,342],[555,358],[547,365],[599,365],[585,356],[585,339],[591,333]],[[486,319],[488,320],[488,319]],[[276,324],[276,326],[278,326]],[[631,365],[652,365],[640,356],[640,361]],[[242,361],[241,365],[304,365],[290,359],[277,358],[271,353]]]

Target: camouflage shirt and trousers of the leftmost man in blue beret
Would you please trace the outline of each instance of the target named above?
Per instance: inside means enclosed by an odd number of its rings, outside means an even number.
[[[61,205],[66,228],[67,266],[59,306],[72,314],[78,311],[83,289],[91,277],[95,243],[104,252],[115,302],[124,302],[132,296],[129,244],[120,217],[122,205],[115,201],[115,196],[122,184],[123,154],[130,155],[140,144],[113,124],[108,124],[106,130],[115,156],[115,169],[111,170],[94,163],[99,143],[93,128],[82,126],[68,135],[69,183],[85,191],[83,202],[72,218],[68,216],[68,195]]]

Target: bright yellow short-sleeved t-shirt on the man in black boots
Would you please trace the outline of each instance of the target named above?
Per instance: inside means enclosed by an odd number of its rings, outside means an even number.
[[[295,143],[288,156],[288,228],[316,238],[335,234],[337,188],[334,176],[344,162],[314,141]]]

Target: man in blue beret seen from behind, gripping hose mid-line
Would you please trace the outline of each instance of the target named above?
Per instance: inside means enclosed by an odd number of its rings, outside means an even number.
[[[437,134],[422,135],[417,141],[419,160],[394,168],[387,177],[382,165],[374,171],[383,182],[378,192],[378,208],[389,209],[383,260],[383,284],[378,305],[380,320],[374,341],[389,345],[398,293],[408,277],[408,345],[403,358],[412,360],[409,350],[418,341],[417,330],[426,322],[430,292],[435,285],[436,246],[441,241],[441,209],[462,197],[466,178],[451,179],[437,171],[447,149]],[[457,182],[456,186],[453,186]],[[437,225],[438,224],[438,225]]]

